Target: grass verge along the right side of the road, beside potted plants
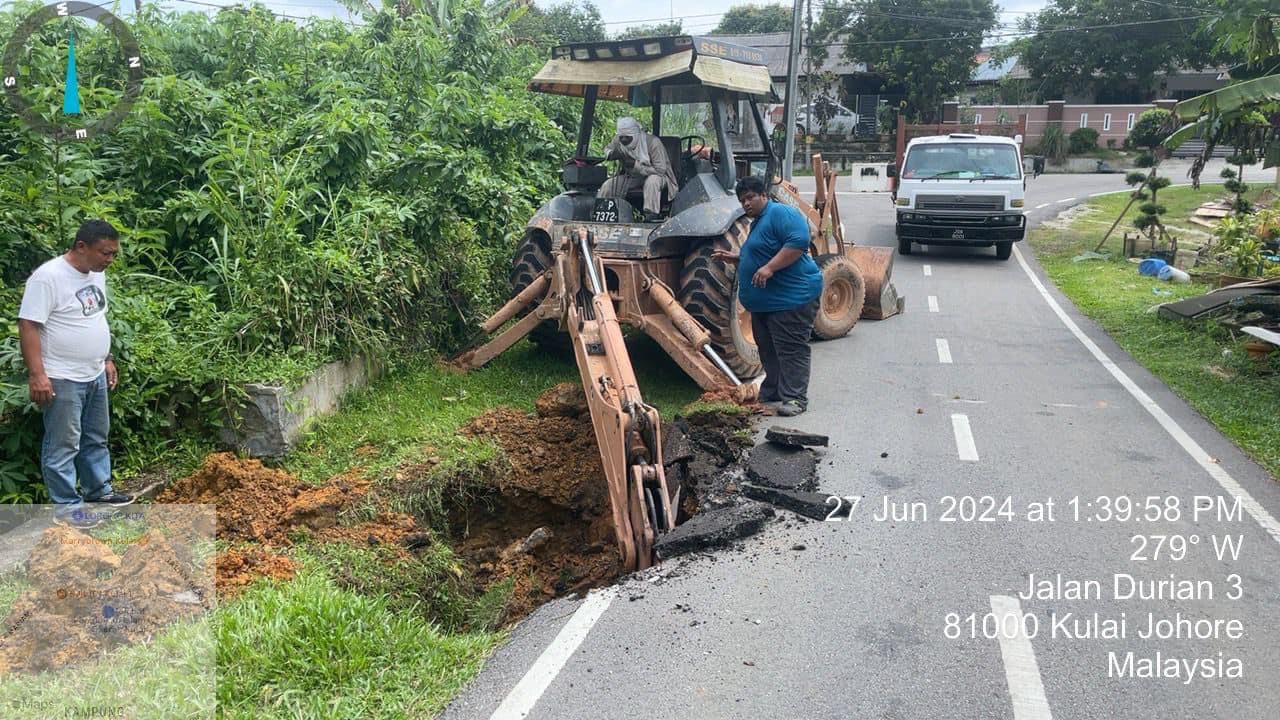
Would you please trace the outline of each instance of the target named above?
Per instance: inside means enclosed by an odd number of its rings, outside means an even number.
[[[1201,202],[1224,195],[1221,186],[1171,187],[1160,192],[1166,218],[1185,218]],[[1094,199],[1096,211],[1066,228],[1037,228],[1030,242],[1048,277],[1097,322],[1138,363],[1212,421],[1272,475],[1280,477],[1280,363],[1257,368],[1244,351],[1244,336],[1211,323],[1181,323],[1160,318],[1162,302],[1206,292],[1204,286],[1170,284],[1138,274],[1137,266],[1116,258],[1121,223],[1108,241],[1112,259],[1075,263],[1093,250],[1128,196]]]

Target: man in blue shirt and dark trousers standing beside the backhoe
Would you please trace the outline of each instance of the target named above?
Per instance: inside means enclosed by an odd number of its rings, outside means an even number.
[[[794,416],[809,405],[809,336],[822,297],[822,270],[809,256],[809,220],[769,200],[764,181],[745,177],[735,187],[751,232],[739,252],[714,258],[737,263],[737,297],[751,311],[751,331],[764,364],[760,400]]]

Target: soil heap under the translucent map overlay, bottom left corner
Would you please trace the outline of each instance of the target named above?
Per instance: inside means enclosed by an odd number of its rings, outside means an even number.
[[[159,529],[123,556],[63,527],[46,529],[27,559],[32,589],[0,628],[0,675],[58,670],[146,642],[212,606],[211,571]]]

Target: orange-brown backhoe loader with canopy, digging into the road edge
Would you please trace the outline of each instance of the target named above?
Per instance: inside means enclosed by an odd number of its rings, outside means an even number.
[[[809,219],[810,252],[823,273],[819,338],[844,337],[859,318],[900,311],[890,283],[893,252],[845,241],[836,173],[820,156],[813,202],[776,177],[781,163],[760,102],[777,97],[756,49],[691,36],[563,45],[530,88],[584,100],[575,156],[562,170],[566,191],[526,227],[512,263],[513,297],[481,325],[497,336],[457,364],[479,368],[526,336],[572,348],[623,566],[643,569],[653,562],[654,538],[675,524],[681,488],[664,477],[658,413],[643,400],[621,325],[654,338],[701,388],[754,400],[760,359],[750,313],[737,300],[733,268],[712,259],[714,250],[741,247],[749,232],[733,193],[737,178],[773,178],[772,199]],[[678,184],[657,218],[637,213],[639,195],[599,196],[607,172],[590,141],[602,100],[650,109],[650,131]]]

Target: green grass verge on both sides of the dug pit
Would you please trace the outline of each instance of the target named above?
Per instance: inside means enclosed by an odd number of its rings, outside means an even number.
[[[634,336],[627,345],[646,401],[663,415],[700,395],[655,343]],[[321,482],[358,464],[392,509],[430,516],[422,509],[445,495],[465,502],[457,493],[500,455],[458,428],[500,405],[532,410],[561,382],[580,382],[572,360],[529,342],[466,374],[424,359],[314,423],[284,466]],[[397,475],[428,459],[428,475]],[[292,556],[302,562],[297,578],[259,582],[218,611],[220,717],[429,717],[504,637],[492,629],[509,583],[476,594],[444,543],[415,560],[343,544]]]

